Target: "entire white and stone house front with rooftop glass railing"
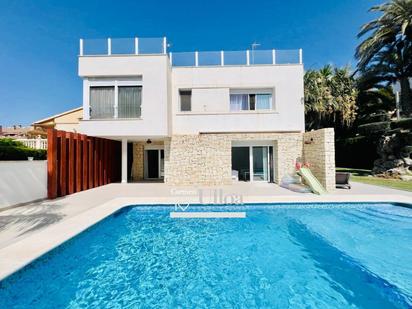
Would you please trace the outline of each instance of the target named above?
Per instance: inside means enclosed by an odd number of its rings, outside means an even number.
[[[310,157],[331,188],[333,130],[304,132],[303,74],[301,50],[168,53],[165,38],[81,40],[79,131],[122,141],[122,182],[278,183]]]

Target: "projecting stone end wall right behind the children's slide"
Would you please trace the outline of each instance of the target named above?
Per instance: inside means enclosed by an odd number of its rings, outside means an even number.
[[[310,164],[312,173],[325,186],[326,190],[335,189],[335,133],[333,128],[305,132],[303,156]]]

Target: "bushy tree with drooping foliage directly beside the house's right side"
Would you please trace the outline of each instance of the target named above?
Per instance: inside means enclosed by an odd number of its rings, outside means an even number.
[[[349,68],[326,65],[304,76],[306,128],[349,127],[356,118],[357,89]]]

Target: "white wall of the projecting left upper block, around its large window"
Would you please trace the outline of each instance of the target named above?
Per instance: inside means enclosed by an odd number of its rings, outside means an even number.
[[[84,117],[80,132],[92,136],[168,136],[168,74],[167,55],[83,56],[79,57],[79,75],[83,87]],[[142,116],[139,120],[87,120],[88,80],[110,82],[118,79],[141,79]]]

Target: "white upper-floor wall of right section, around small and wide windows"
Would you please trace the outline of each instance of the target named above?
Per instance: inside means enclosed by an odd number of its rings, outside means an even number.
[[[305,129],[302,65],[174,67],[172,80],[174,134]],[[179,111],[179,89],[192,89],[192,112]],[[273,89],[273,109],[230,112],[230,89]]]

